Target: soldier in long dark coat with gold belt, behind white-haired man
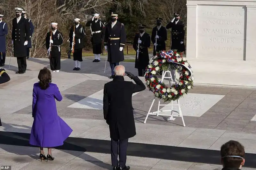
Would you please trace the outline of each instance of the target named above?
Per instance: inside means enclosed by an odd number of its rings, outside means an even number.
[[[124,45],[126,42],[126,33],[124,24],[117,21],[118,15],[111,14],[111,22],[106,25],[104,45],[108,50],[108,62],[111,67],[110,78],[115,77],[114,68],[124,61]]]

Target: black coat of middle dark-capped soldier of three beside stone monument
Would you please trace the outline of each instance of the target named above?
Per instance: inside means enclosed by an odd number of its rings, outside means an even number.
[[[157,31],[157,35],[159,36],[157,40],[156,40],[156,31]],[[154,46],[154,55],[156,55],[156,52],[166,50],[166,45],[165,45],[166,40],[167,40],[166,28],[164,26],[161,26],[160,29],[158,30],[157,26],[155,26],[152,29],[152,33],[151,33],[151,41],[153,42],[153,44],[155,42],[157,44],[156,51]]]

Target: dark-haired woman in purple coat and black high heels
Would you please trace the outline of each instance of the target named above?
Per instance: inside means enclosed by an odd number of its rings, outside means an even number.
[[[56,102],[62,100],[59,88],[52,82],[51,71],[46,67],[40,70],[39,82],[33,87],[32,117],[29,144],[40,147],[39,157],[43,160],[53,160],[52,147],[63,145],[63,141],[73,131],[57,114]],[[47,156],[44,147],[48,148]]]

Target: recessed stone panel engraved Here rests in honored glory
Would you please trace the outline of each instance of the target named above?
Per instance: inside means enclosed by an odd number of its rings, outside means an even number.
[[[243,7],[199,5],[197,51],[197,57],[202,58],[216,58],[216,52],[221,52],[217,57],[243,60]]]

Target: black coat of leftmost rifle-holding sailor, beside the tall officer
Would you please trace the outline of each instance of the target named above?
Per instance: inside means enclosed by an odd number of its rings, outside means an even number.
[[[52,31],[52,30],[51,30]],[[50,33],[48,32],[45,37],[45,46],[46,49],[50,47]],[[60,45],[63,43],[62,33],[60,31],[56,30],[55,34],[52,33],[52,49],[51,49],[51,57],[60,57],[61,51],[60,51]]]

